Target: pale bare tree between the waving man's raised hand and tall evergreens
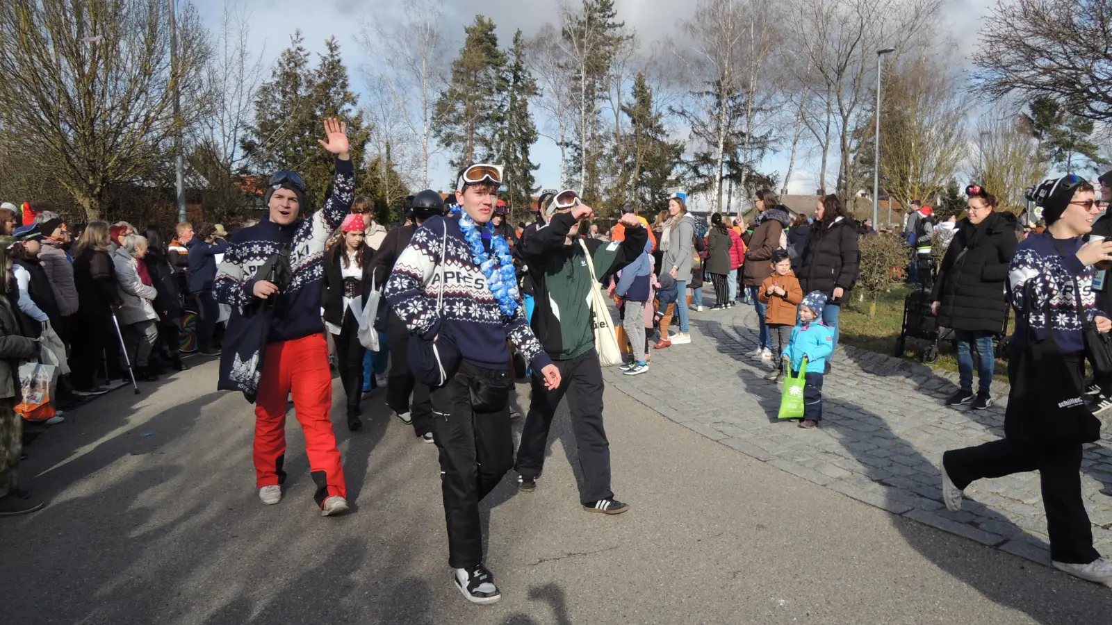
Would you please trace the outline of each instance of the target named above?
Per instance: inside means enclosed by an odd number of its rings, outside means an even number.
[[[439,26],[443,7],[444,0],[408,0],[401,22],[393,30],[374,20],[374,26],[364,24],[357,37],[373,59],[364,70],[369,89],[389,95],[419,146],[424,188],[429,187],[429,159],[437,152],[433,143],[436,100],[446,83],[444,68],[448,65],[447,42]]]

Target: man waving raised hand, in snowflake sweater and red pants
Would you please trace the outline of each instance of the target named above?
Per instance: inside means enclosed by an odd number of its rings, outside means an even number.
[[[266,346],[261,370],[252,369],[251,363],[241,363],[238,353],[225,354],[222,360],[235,356],[236,366],[230,383],[220,380],[221,388],[258,394],[255,477],[259,498],[270,505],[281,500],[281,483],[286,479],[282,470],[286,401],[292,393],[297,420],[305,430],[309,470],[317,485],[314,499],[321,514],[330,516],[346,512],[348,505],[340,450],[330,419],[332,376],[320,317],[324,252],[328,237],[351,210],[355,169],[348,155],[345,125],[328,119],[325,130],[328,141],[319,142],[336,156],[332,195],[325,207],[309,218],[301,218],[306,206],[301,177],[286,170],[271,176],[265,197],[268,215],[258,225],[232,235],[212,291],[217,301],[236,309],[228,321],[229,337],[240,336],[251,323],[240,315],[238,307],[272,306],[269,325],[262,328]],[[226,343],[225,349],[232,347]]]

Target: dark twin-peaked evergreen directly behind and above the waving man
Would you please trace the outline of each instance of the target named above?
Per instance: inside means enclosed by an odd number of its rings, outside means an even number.
[[[262,175],[278,169],[296,171],[308,187],[308,212],[324,206],[332,180],[332,155],[320,149],[324,120],[337,117],[347,123],[351,160],[358,168],[369,136],[358,98],[348,89],[348,73],[336,39],[325,41],[326,52],[316,69],[300,30],[282,51],[268,82],[259,88],[255,125],[244,140],[244,151]]]

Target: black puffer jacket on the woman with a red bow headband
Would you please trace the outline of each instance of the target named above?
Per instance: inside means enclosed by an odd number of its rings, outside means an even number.
[[[974,226],[957,222],[957,231],[934,281],[932,301],[940,301],[939,326],[955,330],[999,333],[1007,315],[1007,266],[1015,254],[1015,216],[993,212]]]

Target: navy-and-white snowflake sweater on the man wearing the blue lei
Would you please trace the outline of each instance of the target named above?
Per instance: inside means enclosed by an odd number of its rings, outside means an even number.
[[[486,286],[486,277],[471,260],[470,248],[459,229],[459,218],[455,216],[434,217],[414,232],[383,290],[394,312],[411,334],[423,336],[437,321],[441,262],[445,288],[439,317],[451,325],[464,360],[486,369],[506,369],[509,366],[508,338],[535,369],[552,364],[529,328],[525,306],[518,306],[513,317],[498,308],[498,301]]]

